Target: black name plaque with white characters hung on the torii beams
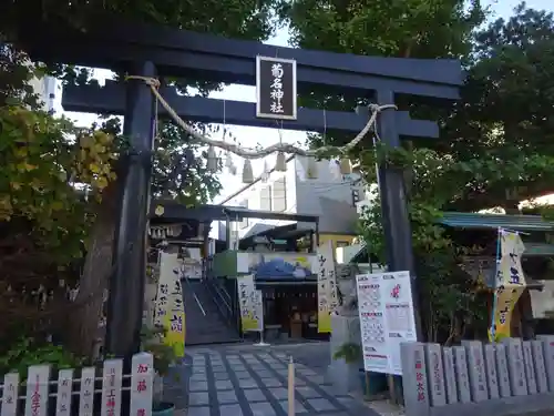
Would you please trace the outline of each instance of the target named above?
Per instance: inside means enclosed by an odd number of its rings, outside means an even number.
[[[296,120],[296,61],[256,57],[256,116]]]

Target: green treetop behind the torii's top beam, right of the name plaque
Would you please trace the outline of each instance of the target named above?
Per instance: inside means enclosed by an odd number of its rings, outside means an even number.
[[[278,10],[290,27],[294,47],[396,58],[466,57],[471,32],[484,19],[479,0],[298,0],[283,1]],[[299,101],[350,111],[371,99],[318,89]],[[310,139],[321,144],[321,138]],[[340,134],[330,138],[337,143],[349,140]]]

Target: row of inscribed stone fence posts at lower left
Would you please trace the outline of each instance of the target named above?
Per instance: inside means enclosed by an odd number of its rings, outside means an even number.
[[[55,416],[70,416],[74,396],[79,396],[79,416],[92,416],[94,406],[101,407],[102,416],[121,416],[122,390],[131,389],[131,416],[152,416],[154,358],[152,354],[140,353],[133,356],[131,374],[123,374],[122,359],[106,359],[102,375],[96,375],[95,367],[81,369],[80,378],[75,369],[60,369],[58,379],[51,379],[50,365],[29,367],[25,383],[21,383],[18,373],[3,377],[0,416],[21,415],[47,416],[52,414],[48,406],[55,397]],[[131,387],[123,387],[123,379],[131,378]],[[102,387],[95,388],[95,384]],[[54,388],[54,386],[57,388]],[[24,387],[24,388],[22,388]],[[23,394],[24,392],[24,394]],[[94,403],[94,395],[102,394],[102,402]]]

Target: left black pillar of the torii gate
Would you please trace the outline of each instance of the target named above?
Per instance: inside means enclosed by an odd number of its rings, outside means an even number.
[[[152,62],[135,63],[129,70],[133,75],[156,74]],[[144,230],[148,221],[155,122],[154,97],[144,81],[127,81],[125,103],[123,135],[130,141],[130,151],[122,155],[120,215],[104,346],[106,354],[117,357],[131,357],[141,344],[147,244]]]

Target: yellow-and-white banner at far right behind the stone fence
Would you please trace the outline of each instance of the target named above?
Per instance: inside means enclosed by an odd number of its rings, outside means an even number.
[[[526,288],[525,275],[521,265],[521,255],[525,245],[517,233],[502,231],[501,260],[496,271],[496,291],[490,341],[500,341],[511,336],[512,314],[515,304]]]

